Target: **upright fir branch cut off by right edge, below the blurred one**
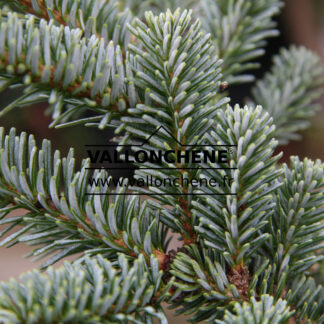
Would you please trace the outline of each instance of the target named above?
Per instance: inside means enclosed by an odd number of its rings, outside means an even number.
[[[316,254],[324,246],[324,164],[292,157],[283,170],[266,249],[277,266],[276,282],[303,274],[324,258]]]

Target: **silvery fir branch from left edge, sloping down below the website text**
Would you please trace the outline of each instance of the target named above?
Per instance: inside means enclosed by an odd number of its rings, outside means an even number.
[[[141,204],[138,196],[122,195],[126,187],[113,191],[107,185],[88,184],[89,160],[82,162],[79,172],[74,171],[74,164],[72,150],[61,158],[59,151],[52,155],[47,140],[38,150],[32,135],[16,136],[14,129],[5,135],[1,129],[0,193],[8,197],[0,210],[0,225],[8,225],[1,236],[22,226],[1,245],[25,242],[37,245],[31,256],[54,254],[42,267],[79,252],[101,253],[110,260],[117,258],[117,252],[133,258],[139,253],[147,258],[155,254],[163,267],[167,229],[160,224],[159,215],[146,202]],[[94,182],[101,177],[108,175],[96,171]],[[17,208],[26,214],[6,218]]]

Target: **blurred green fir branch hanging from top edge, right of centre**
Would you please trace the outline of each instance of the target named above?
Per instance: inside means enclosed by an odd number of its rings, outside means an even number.
[[[279,0],[204,0],[202,22],[212,34],[217,55],[224,60],[224,80],[230,84],[250,82],[243,74],[257,68],[256,58],[264,54],[265,39],[278,35],[273,16],[279,13]]]

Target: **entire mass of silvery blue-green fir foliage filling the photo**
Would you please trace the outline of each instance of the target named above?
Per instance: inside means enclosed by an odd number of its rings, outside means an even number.
[[[0,322],[167,323],[167,302],[194,323],[324,323],[312,277],[324,165],[281,164],[275,151],[318,109],[320,59],[282,49],[244,107],[223,91],[253,80],[280,1],[0,3],[0,88],[23,87],[1,116],[48,101],[52,127],[111,127],[120,151],[171,152],[158,167],[134,164],[135,179],[163,185],[111,189],[89,159],[76,170],[73,149],[61,157],[48,140],[1,128],[1,246],[35,246],[42,270],[75,260],[1,283]],[[215,147],[228,159],[177,160]]]

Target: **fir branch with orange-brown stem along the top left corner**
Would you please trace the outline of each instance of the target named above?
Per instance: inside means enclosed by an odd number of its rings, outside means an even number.
[[[8,1],[2,1],[8,4]],[[120,11],[116,0],[14,0],[10,6],[23,13],[30,13],[56,25],[79,28],[86,38],[96,35],[107,44],[113,41],[126,49],[129,42],[127,24],[132,20],[129,9]]]

